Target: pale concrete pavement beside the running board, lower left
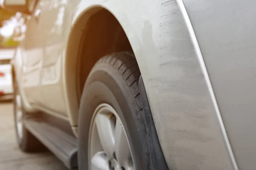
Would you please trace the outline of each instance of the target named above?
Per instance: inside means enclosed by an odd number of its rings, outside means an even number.
[[[67,170],[52,153],[22,153],[17,147],[13,105],[0,102],[0,170]]]

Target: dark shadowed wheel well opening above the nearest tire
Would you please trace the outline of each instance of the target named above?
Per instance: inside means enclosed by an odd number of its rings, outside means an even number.
[[[132,51],[132,48],[119,21],[107,9],[90,8],[76,20],[64,68],[71,125],[77,125],[79,102],[91,68],[99,58],[120,51]]]

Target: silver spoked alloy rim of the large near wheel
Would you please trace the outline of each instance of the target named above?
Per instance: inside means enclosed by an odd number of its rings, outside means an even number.
[[[125,128],[111,105],[94,111],[88,147],[90,170],[135,170]]]

